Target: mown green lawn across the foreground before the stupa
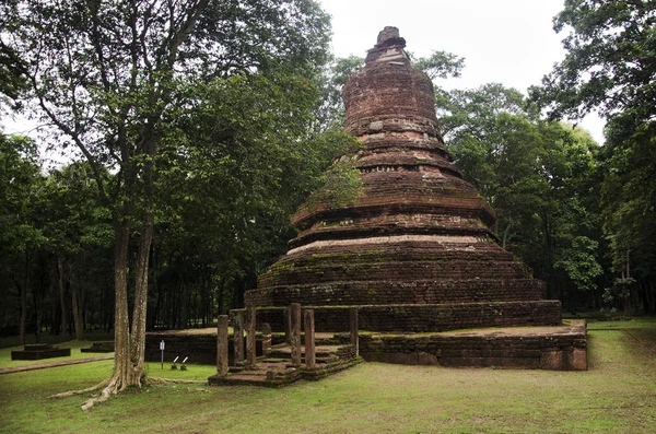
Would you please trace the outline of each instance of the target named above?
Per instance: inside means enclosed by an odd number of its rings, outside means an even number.
[[[590,328],[588,372],[365,363],[278,390],[151,386],[89,412],[80,410],[86,397],[47,396],[102,380],[112,362],[8,374],[0,376],[0,432],[654,433],[656,320]],[[149,366],[156,377],[204,379],[213,372]]]

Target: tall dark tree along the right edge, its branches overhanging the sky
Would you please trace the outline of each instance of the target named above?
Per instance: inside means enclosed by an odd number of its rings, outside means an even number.
[[[554,118],[579,119],[593,109],[606,118],[607,143],[597,153],[601,212],[613,269],[621,274],[610,286],[634,294],[631,269],[641,270],[637,285],[647,310],[654,308],[656,291],[656,275],[649,271],[656,250],[651,236],[656,223],[649,219],[654,191],[653,183],[645,181],[656,165],[649,151],[656,122],[655,24],[653,0],[566,0],[554,17],[554,30],[569,32],[563,40],[565,59],[542,86],[531,90],[532,99]]]

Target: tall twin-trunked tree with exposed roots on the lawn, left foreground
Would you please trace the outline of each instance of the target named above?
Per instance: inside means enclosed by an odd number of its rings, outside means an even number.
[[[148,267],[156,211],[154,160],[186,101],[187,79],[290,64],[312,74],[326,58],[328,16],[311,0],[10,0],[3,45],[38,113],[84,155],[115,222],[115,367],[98,400],[144,375]],[[19,62],[19,59],[21,60]],[[102,165],[118,173],[105,185]],[[128,313],[131,234],[134,304]],[[87,401],[86,409],[96,400]]]

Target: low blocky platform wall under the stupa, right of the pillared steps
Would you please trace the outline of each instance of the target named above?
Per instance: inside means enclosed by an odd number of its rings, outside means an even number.
[[[360,355],[366,361],[405,365],[585,371],[586,329],[585,321],[581,322],[562,327],[562,331],[551,327],[499,335],[361,336]]]

